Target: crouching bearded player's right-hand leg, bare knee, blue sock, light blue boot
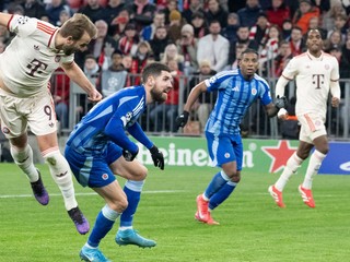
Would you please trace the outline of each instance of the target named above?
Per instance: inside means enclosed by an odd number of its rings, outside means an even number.
[[[141,191],[147,177],[147,168],[137,159],[127,162],[124,157],[119,157],[110,164],[110,169],[127,179],[124,192],[128,199],[128,207],[120,216],[120,227],[116,236],[116,242],[119,246],[136,245],[142,248],[151,248],[156,245],[154,240],[140,236],[132,227],[132,221],[137,207],[140,202]]]

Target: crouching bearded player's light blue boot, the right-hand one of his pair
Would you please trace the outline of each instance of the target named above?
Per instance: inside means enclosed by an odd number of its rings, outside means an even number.
[[[119,246],[135,245],[140,248],[152,248],[156,245],[154,240],[140,236],[138,231],[132,228],[125,230],[119,229],[116,236],[116,242]]]

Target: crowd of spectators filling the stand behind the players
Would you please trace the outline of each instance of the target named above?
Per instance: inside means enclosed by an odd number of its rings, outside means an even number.
[[[186,100],[190,88],[206,75],[235,69],[246,48],[258,50],[261,76],[279,78],[288,61],[305,51],[304,36],[308,28],[319,28],[324,50],[339,61],[340,78],[350,79],[349,1],[4,0],[0,10],[57,26],[75,12],[88,15],[97,27],[97,37],[84,52],[75,53],[75,61],[88,75],[94,76],[104,96],[140,84],[139,74],[148,63],[167,64],[175,80],[174,90],[164,105],[150,107],[148,111],[147,124],[156,132],[176,132],[174,120],[179,102]],[[0,27],[0,52],[11,38],[7,28]],[[180,79],[185,79],[185,91],[179,90]],[[57,116],[62,128],[68,128],[68,112],[72,110],[70,81],[58,70],[51,86]],[[199,131],[213,100],[202,97],[195,105]],[[74,110],[81,115],[86,111]]]

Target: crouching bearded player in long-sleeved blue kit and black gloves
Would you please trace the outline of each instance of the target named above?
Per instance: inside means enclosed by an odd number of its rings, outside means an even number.
[[[156,245],[132,228],[147,168],[135,159],[139,148],[126,131],[150,150],[154,166],[164,169],[163,154],[148,139],[137,120],[148,104],[166,100],[173,88],[170,72],[162,63],[147,66],[142,72],[142,85],[124,88],[100,102],[68,139],[65,155],[77,180],[83,187],[92,188],[106,202],[80,251],[80,258],[84,261],[109,261],[100,251],[98,245],[118,216],[120,227],[115,240],[119,246],[151,248]],[[127,179],[124,190],[115,175]]]

